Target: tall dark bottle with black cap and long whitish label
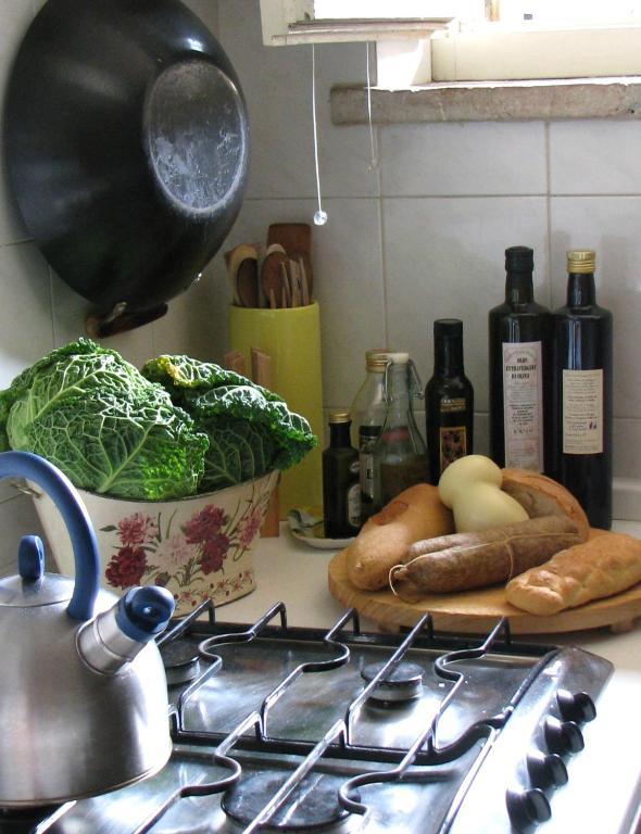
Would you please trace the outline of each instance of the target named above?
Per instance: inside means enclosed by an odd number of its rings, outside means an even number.
[[[535,302],[533,250],[505,250],[505,301],[489,314],[490,455],[501,467],[548,471],[551,325]]]

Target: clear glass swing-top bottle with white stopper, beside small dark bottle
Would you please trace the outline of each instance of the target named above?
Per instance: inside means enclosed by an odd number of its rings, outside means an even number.
[[[427,448],[414,417],[414,396],[423,387],[407,353],[388,354],[385,372],[387,414],[374,447],[374,477],[380,483],[376,509],[428,478]]]

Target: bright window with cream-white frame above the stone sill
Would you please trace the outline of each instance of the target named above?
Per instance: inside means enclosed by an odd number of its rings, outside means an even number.
[[[641,75],[634,0],[261,0],[261,9],[273,46],[376,41],[379,87]],[[403,62],[407,72],[392,80]]]

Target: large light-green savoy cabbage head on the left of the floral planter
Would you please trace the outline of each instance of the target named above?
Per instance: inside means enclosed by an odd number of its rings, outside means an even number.
[[[0,445],[41,455],[79,489],[162,501],[197,491],[209,441],[161,386],[79,339],[0,392]]]

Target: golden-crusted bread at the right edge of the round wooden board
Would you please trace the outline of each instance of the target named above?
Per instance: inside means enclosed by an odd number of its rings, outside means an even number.
[[[550,616],[592,599],[618,594],[641,582],[641,541],[624,533],[596,536],[507,583],[508,603]]]

